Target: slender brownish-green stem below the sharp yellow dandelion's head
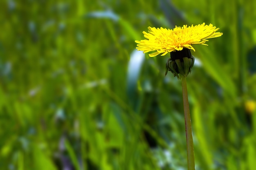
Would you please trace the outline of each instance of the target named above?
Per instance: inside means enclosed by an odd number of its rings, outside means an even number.
[[[186,149],[187,149],[187,160],[188,170],[195,170],[195,156],[192,136],[192,125],[189,112],[189,99],[188,91],[186,88],[186,77],[182,75],[182,97],[184,107],[184,118],[185,118],[185,129],[186,129]]]

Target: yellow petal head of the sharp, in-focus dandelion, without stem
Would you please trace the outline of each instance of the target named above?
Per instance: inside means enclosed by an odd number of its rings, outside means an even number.
[[[148,33],[143,31],[144,37],[147,40],[135,41],[137,43],[136,49],[144,51],[156,51],[149,54],[150,57],[155,57],[158,54],[166,55],[168,52],[181,51],[183,48],[195,49],[192,44],[204,44],[209,38],[220,37],[223,33],[216,32],[219,28],[212,24],[205,25],[198,24],[196,26],[183,25],[172,29],[148,27]]]

